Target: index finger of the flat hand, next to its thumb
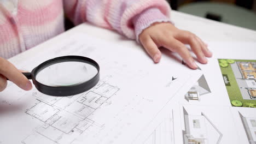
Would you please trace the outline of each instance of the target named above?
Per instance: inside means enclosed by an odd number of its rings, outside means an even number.
[[[167,49],[173,52],[179,53],[179,55],[183,58],[183,60],[188,64],[188,66],[191,69],[197,69],[197,65],[193,57],[191,57],[188,48],[184,44],[182,44],[180,41],[172,38],[172,39],[163,39],[162,41],[160,41],[160,43],[162,43],[163,46],[166,47]]]

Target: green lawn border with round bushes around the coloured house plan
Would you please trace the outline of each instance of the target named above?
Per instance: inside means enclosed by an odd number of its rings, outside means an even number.
[[[236,77],[230,65],[231,63],[234,63],[234,62],[256,62],[256,61],[229,59],[231,61],[225,62],[225,60],[228,60],[228,59],[219,59],[219,65],[220,65],[220,70],[222,71],[222,74],[228,75],[228,78],[229,78],[229,82],[231,86],[226,86],[226,90],[228,91],[228,94],[229,94],[230,103],[232,104],[232,106],[256,107],[256,100],[243,99],[242,94],[240,92],[240,88],[238,87],[236,82]]]

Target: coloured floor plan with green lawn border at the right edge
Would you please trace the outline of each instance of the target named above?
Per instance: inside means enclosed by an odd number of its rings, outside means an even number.
[[[256,61],[219,59],[232,106],[256,107]]]

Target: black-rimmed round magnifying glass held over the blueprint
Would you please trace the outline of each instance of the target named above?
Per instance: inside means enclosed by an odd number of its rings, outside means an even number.
[[[49,59],[31,73],[22,73],[32,79],[39,92],[53,96],[69,96],[88,91],[100,80],[100,66],[82,56],[63,56]]]

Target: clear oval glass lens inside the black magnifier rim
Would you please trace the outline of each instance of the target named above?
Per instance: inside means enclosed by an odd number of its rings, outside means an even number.
[[[75,86],[97,75],[94,65],[85,62],[60,62],[40,70],[36,80],[50,87]]]

